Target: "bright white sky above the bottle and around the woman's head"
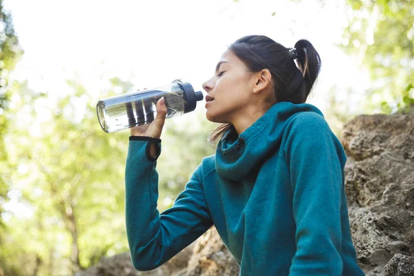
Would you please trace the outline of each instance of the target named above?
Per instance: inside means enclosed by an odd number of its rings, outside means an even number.
[[[115,76],[132,80],[135,88],[183,78],[201,90],[226,46],[239,37],[264,34],[286,47],[304,38],[322,57],[310,102],[324,111],[331,86],[366,86],[366,75],[335,46],[346,26],[344,1],[318,2],[4,0],[25,50],[12,77],[61,94],[76,74],[96,99]]]

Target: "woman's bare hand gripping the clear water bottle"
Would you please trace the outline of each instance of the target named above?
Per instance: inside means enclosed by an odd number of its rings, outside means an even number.
[[[157,101],[157,117],[150,124],[135,126],[130,128],[131,136],[146,136],[152,138],[160,138],[161,131],[166,121],[167,107],[164,102],[164,97]]]

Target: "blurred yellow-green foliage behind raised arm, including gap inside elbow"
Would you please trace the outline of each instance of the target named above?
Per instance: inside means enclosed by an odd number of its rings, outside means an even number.
[[[76,79],[67,84],[72,92],[57,99],[30,90],[27,82],[10,88],[6,175],[13,189],[8,201],[26,206],[28,215],[10,213],[6,224],[13,230],[1,246],[7,264],[21,275],[68,275],[128,250],[124,170],[129,130],[103,132],[97,99]],[[131,88],[130,82],[112,78],[99,97]],[[172,204],[201,158],[213,154],[207,144],[213,128],[201,110],[166,121],[157,162],[160,210]],[[25,266],[19,266],[22,260]]]

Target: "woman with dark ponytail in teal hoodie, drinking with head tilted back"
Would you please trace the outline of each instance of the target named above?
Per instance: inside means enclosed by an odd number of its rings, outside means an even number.
[[[195,169],[164,213],[156,159],[166,106],[131,129],[126,229],[137,270],[161,266],[213,224],[240,275],[364,275],[344,191],[346,155],[315,106],[304,103],[320,69],[312,44],[285,48],[242,37],[203,84],[206,117],[223,123],[215,155]]]

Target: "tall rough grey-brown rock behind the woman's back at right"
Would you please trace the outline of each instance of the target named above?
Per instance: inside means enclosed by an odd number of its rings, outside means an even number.
[[[414,113],[355,117],[341,141],[358,262],[382,275],[396,253],[414,254]]]

